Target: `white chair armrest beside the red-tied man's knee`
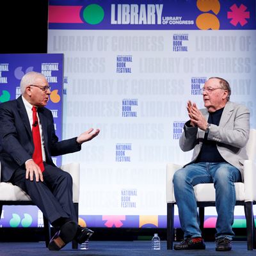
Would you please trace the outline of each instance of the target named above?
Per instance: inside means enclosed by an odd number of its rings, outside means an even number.
[[[73,180],[73,202],[79,202],[79,186],[80,186],[80,165],[79,163],[69,163],[60,166],[61,170],[70,173]]]

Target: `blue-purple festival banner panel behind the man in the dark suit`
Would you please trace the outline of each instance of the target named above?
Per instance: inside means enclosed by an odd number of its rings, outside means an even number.
[[[52,111],[56,135],[62,140],[63,54],[0,54],[0,102],[20,96],[20,79],[29,71],[41,72],[51,85],[47,108]],[[52,159],[61,165],[61,156]],[[43,225],[42,212],[35,206],[3,207],[0,227]]]

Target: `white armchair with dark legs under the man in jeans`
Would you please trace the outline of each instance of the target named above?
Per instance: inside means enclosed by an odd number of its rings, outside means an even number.
[[[253,218],[253,204],[256,204],[256,129],[250,130],[250,138],[246,145],[248,160],[244,161],[244,182],[236,182],[236,205],[244,205],[247,228],[247,249],[256,248],[256,232]],[[167,203],[167,249],[172,250],[174,239],[174,205],[173,174],[182,168],[178,164],[168,163],[166,166],[166,203]],[[215,189],[213,183],[198,184],[194,187],[199,207],[200,228],[204,229],[204,207],[215,205]]]

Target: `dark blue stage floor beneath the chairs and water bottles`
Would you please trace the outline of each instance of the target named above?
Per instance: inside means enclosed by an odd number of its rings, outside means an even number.
[[[234,241],[230,252],[216,252],[215,243],[206,243],[206,250],[174,251],[166,250],[166,241],[161,241],[161,250],[151,250],[150,241],[90,241],[89,250],[72,250],[71,244],[67,244],[59,252],[51,252],[45,248],[45,243],[1,243],[0,256],[29,256],[29,255],[104,255],[104,256],[140,256],[140,255],[256,255],[256,250],[248,251],[246,242]]]

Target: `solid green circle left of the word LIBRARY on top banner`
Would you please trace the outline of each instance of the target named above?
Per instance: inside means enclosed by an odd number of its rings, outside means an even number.
[[[99,24],[104,18],[104,10],[98,4],[89,4],[84,8],[83,18],[88,24]]]

